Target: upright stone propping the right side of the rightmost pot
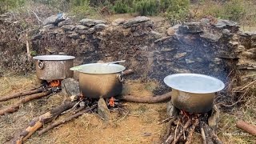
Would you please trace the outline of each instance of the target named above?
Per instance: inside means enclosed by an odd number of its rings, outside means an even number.
[[[220,120],[219,118],[219,110],[218,107],[216,105],[214,105],[213,110],[210,114],[210,117],[208,118],[208,125],[210,126],[210,128],[212,128],[214,131],[217,130],[218,128],[218,122]]]

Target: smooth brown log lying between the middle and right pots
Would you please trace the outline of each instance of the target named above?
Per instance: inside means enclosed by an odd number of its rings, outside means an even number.
[[[156,95],[154,97],[146,97],[146,98],[140,98],[135,97],[132,95],[123,95],[120,97],[120,99],[128,101],[128,102],[139,102],[139,103],[157,103],[157,102],[164,102],[171,98],[171,93],[166,93],[162,95]]]

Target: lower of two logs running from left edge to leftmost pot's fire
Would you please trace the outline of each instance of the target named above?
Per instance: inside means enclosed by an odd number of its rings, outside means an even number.
[[[14,103],[14,105],[6,107],[5,109],[0,110],[0,115],[4,115],[4,114],[10,114],[10,113],[14,113],[15,111],[18,111],[19,106],[21,104],[24,104],[26,102],[30,102],[34,99],[37,98],[42,98],[45,97],[47,95],[49,95],[51,93],[51,91],[46,91],[46,92],[42,92],[42,93],[38,93],[38,94],[32,94],[29,96],[26,96],[25,98],[22,98],[21,100],[19,100],[18,102]]]

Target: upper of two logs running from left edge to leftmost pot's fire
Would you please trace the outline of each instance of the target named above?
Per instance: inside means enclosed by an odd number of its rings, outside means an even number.
[[[22,91],[22,92],[10,94],[10,95],[2,96],[2,97],[0,97],[0,102],[6,101],[6,100],[9,100],[9,99],[12,99],[12,98],[22,97],[24,95],[36,94],[36,93],[41,93],[41,92],[42,92],[42,89],[40,89],[40,88],[35,89],[35,90]]]

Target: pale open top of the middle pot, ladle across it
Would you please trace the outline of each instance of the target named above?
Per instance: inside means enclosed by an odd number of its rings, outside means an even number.
[[[92,68],[92,66],[94,66],[94,68]],[[108,66],[110,66],[110,68],[106,69],[106,67]],[[98,70],[98,69],[101,69],[101,70]],[[126,70],[126,67],[118,64],[89,63],[89,64],[82,65],[81,69],[78,70],[78,72],[81,72],[84,74],[116,74],[116,73],[122,72],[123,70]]]

